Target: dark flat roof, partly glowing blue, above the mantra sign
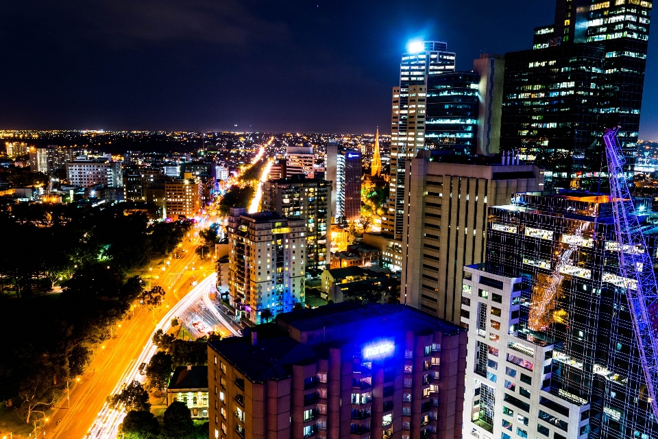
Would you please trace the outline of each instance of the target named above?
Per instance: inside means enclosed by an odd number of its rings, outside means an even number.
[[[331,344],[360,343],[382,334],[464,331],[452,323],[406,305],[361,305],[340,302],[315,309],[279,314],[275,323],[260,324],[245,337],[227,337],[209,346],[252,382],[282,379],[291,375],[293,364],[309,364],[324,355]],[[326,331],[324,337],[306,337],[309,331]],[[247,331],[250,332],[250,331]],[[300,340],[308,340],[304,343]]]

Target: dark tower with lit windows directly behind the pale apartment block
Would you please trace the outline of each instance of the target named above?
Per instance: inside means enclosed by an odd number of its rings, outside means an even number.
[[[330,182],[304,174],[263,182],[261,211],[302,219],[306,224],[306,243],[297,254],[306,254],[306,272],[312,277],[330,263],[330,198]]]

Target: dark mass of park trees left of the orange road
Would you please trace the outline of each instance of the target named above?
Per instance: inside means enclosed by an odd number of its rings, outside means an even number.
[[[0,205],[0,400],[24,420],[82,374],[144,294],[129,273],[173,251],[188,222],[151,224],[123,207]],[[47,294],[53,285],[62,294]]]

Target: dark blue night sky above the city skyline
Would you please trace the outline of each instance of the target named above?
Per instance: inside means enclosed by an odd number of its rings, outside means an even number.
[[[408,40],[446,41],[457,69],[470,70],[480,53],[530,49],[554,9],[553,0],[10,0],[0,128],[390,132]],[[658,140],[655,39],[640,138]]]

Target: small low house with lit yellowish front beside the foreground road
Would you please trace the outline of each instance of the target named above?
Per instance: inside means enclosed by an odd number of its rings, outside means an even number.
[[[208,368],[179,366],[167,385],[167,405],[175,401],[185,403],[192,418],[208,418]]]

